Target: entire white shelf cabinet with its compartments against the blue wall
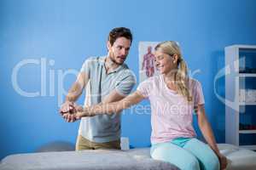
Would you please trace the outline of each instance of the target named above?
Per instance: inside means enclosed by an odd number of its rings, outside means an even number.
[[[225,48],[225,142],[256,150],[256,45]]]

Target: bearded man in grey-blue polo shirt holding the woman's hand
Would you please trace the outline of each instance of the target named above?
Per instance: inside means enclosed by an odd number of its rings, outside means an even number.
[[[108,36],[108,55],[84,61],[76,82],[61,105],[61,115],[67,122],[76,121],[72,113],[81,108],[74,102],[86,86],[85,106],[118,101],[130,94],[136,79],[124,62],[131,42],[128,28],[114,28]],[[76,150],[120,149],[120,133],[120,114],[83,117]]]

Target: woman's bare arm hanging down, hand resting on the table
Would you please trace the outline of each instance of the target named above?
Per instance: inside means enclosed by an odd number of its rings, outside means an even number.
[[[214,134],[212,133],[212,127],[210,123],[207,121],[205,105],[198,105],[197,116],[198,116],[198,126],[201,129],[201,133],[203,134],[204,138],[207,140],[207,144],[209,144],[209,146],[218,156],[218,159],[221,164],[221,169],[224,169],[225,167],[227,167],[227,158],[223,156],[218,150],[218,146],[216,144]]]

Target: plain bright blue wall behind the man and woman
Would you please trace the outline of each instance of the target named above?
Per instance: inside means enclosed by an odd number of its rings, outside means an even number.
[[[116,26],[127,26],[133,32],[134,42],[126,63],[137,76],[139,41],[180,42],[190,70],[201,70],[195,78],[202,83],[216,138],[224,142],[224,105],[213,93],[213,78],[224,67],[225,46],[256,44],[255,7],[253,0],[2,0],[0,159],[32,152],[55,140],[75,143],[79,122],[64,122],[57,112],[58,87],[68,89],[75,77],[69,74],[63,83],[58,83],[60,71],[79,71],[88,56],[106,54],[108,31]],[[45,94],[29,98],[15,91],[13,69],[24,59],[46,59]],[[50,59],[54,63],[49,64]],[[50,74],[55,76],[54,81],[49,81]],[[20,68],[18,83],[26,91],[40,92],[40,65]],[[49,87],[54,87],[55,93],[49,94]],[[224,79],[218,81],[218,92],[224,95]],[[131,145],[150,144],[149,114],[128,110],[122,123],[123,136],[130,138]]]

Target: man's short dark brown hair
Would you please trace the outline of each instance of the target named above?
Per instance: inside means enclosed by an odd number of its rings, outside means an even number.
[[[115,42],[116,39],[119,37],[125,37],[131,40],[132,42],[132,34],[129,28],[125,28],[125,27],[113,28],[113,30],[109,32],[108,41],[110,42],[111,45],[113,45],[113,42]]]

